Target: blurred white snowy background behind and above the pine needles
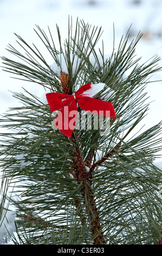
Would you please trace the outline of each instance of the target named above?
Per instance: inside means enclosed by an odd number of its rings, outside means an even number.
[[[45,32],[49,26],[54,35],[57,33],[57,23],[62,39],[65,39],[70,15],[74,22],[79,17],[85,23],[102,26],[104,32],[98,47],[102,47],[103,39],[105,53],[111,53],[113,49],[113,23],[116,47],[121,36],[126,34],[132,24],[131,39],[139,31],[144,33],[136,49],[137,57],[142,56],[141,61],[144,63],[155,54],[162,58],[161,13],[161,0],[0,0],[0,56],[14,58],[5,50],[8,44],[18,47],[14,33],[22,36],[29,44],[34,42],[41,50],[42,45],[33,29],[36,28],[35,25]],[[162,65],[162,60],[159,64]],[[14,80],[10,76],[11,74],[0,69],[0,114],[18,104],[9,91],[22,92],[24,87],[37,96],[43,93],[42,88],[34,86],[33,83]],[[162,80],[162,72],[158,72],[151,79]],[[145,130],[161,121],[162,82],[148,84],[147,91],[150,101],[153,102],[144,123],[140,125],[142,127],[145,124]],[[157,161],[162,169],[162,159]]]

